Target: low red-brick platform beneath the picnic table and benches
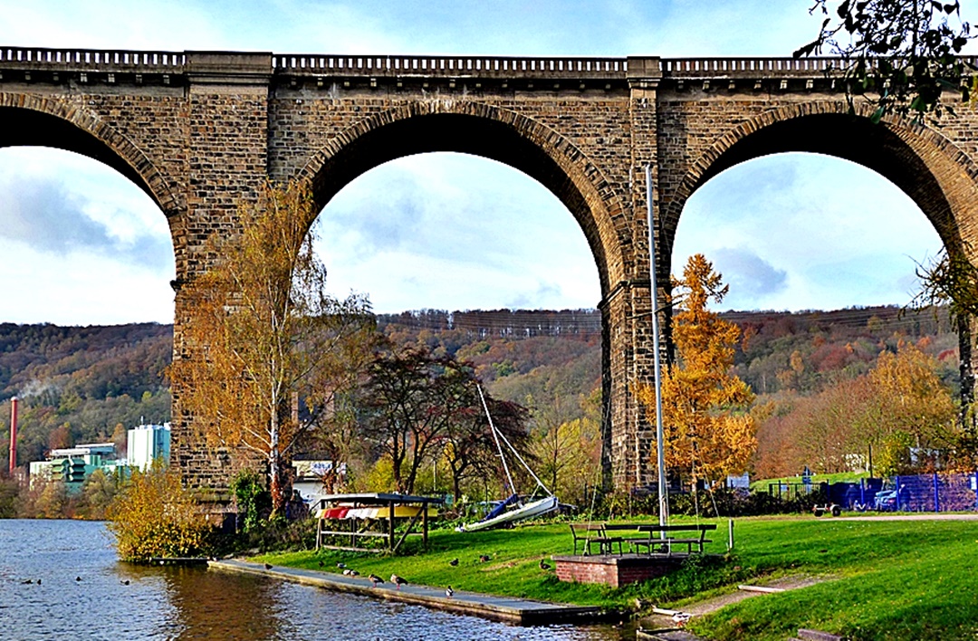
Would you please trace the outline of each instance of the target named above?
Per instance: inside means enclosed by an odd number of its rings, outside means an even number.
[[[683,565],[686,556],[625,554],[615,556],[555,556],[556,577],[573,583],[603,583],[622,587],[662,577]]]

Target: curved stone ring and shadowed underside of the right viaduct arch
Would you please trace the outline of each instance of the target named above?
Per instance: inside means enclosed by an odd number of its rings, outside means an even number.
[[[934,129],[900,117],[874,124],[870,112],[864,106],[850,115],[842,101],[802,103],[732,127],[690,163],[678,189],[662,203],[666,272],[692,192],[733,165],[785,151],[832,155],[875,171],[911,197],[950,250],[978,250],[978,165]]]

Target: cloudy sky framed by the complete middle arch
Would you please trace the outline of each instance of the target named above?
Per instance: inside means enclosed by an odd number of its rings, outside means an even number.
[[[597,268],[566,208],[525,174],[435,152],[386,162],[317,219],[337,295],[374,310],[564,310],[600,301]]]

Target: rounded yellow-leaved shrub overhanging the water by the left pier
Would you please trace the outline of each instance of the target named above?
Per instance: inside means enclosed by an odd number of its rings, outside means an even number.
[[[161,464],[148,472],[133,472],[112,500],[107,517],[123,561],[201,556],[213,545],[215,530],[200,505],[180,485],[179,475]]]

